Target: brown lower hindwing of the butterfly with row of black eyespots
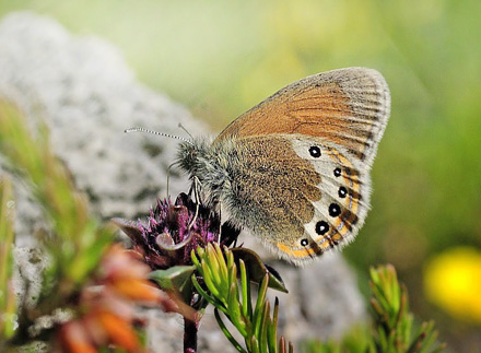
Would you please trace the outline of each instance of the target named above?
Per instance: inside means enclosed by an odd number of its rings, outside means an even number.
[[[342,146],[302,134],[245,137],[231,161],[231,219],[291,262],[348,244],[364,222],[368,170]]]

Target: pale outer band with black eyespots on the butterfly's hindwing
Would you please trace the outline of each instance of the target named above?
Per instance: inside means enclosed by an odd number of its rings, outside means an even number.
[[[303,263],[327,250],[341,248],[357,234],[368,209],[369,174],[363,164],[350,161],[349,153],[326,140],[303,136],[286,139],[320,176],[316,185],[320,198],[312,201],[314,213],[303,224],[304,233],[295,242],[277,244],[282,257]]]

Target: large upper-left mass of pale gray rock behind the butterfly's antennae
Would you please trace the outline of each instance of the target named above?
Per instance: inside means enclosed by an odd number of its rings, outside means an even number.
[[[206,131],[184,107],[137,82],[107,42],[72,36],[33,13],[1,22],[0,68],[0,94],[47,121],[55,150],[105,219],[139,215],[165,196],[176,155],[178,141],[125,129],[185,134],[183,123]],[[186,188],[175,169],[169,181],[171,192]]]

